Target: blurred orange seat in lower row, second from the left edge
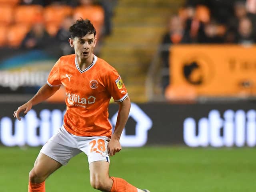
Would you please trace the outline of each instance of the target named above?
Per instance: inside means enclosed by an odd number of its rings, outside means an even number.
[[[11,47],[18,47],[30,30],[28,25],[15,24],[8,28],[7,41]]]

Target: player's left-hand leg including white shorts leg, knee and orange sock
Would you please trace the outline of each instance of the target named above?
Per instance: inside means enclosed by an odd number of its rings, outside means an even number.
[[[82,152],[76,140],[62,127],[40,150],[34,168],[29,174],[28,192],[45,192],[44,180],[62,165]]]

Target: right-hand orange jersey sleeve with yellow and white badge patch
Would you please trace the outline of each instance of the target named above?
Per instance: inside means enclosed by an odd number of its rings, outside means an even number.
[[[107,89],[115,102],[122,102],[128,97],[128,92],[124,83],[122,82],[121,76],[116,70],[108,71],[107,76]]]

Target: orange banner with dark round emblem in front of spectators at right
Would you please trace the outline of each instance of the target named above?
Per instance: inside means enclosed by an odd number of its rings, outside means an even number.
[[[172,46],[167,94],[182,88],[185,95],[255,96],[256,46]]]

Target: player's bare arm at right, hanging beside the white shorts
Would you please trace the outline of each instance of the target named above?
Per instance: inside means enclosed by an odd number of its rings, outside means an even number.
[[[124,129],[124,126],[128,120],[128,116],[131,108],[131,101],[129,96],[127,96],[127,98],[124,101],[118,104],[119,104],[119,110],[118,110],[118,116],[116,120],[116,127],[108,143],[108,154],[110,156],[115,155],[116,152],[119,152],[122,149],[119,140],[120,140],[122,131]]]

